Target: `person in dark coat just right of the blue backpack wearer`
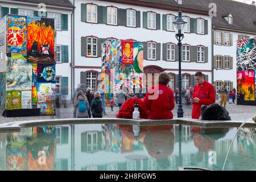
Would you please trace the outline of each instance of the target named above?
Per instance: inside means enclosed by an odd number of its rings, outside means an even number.
[[[94,98],[92,100],[92,104],[90,105],[90,109],[92,110],[93,118],[102,118],[103,108],[100,92],[94,93]]]

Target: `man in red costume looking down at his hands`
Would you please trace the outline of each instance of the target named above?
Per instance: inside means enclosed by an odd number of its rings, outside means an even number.
[[[202,105],[215,103],[215,92],[213,85],[204,80],[203,73],[196,72],[195,80],[197,84],[194,87],[191,103],[193,104],[192,119],[199,119]]]

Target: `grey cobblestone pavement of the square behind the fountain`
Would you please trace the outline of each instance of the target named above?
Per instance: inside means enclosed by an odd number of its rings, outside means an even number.
[[[253,117],[256,114],[256,106],[242,106],[236,104],[227,104],[227,110],[229,111],[230,117],[235,121],[244,121],[248,118]],[[184,118],[191,118],[192,105],[183,105]],[[106,107],[106,113],[104,118],[115,118],[115,114],[118,112],[118,107],[114,107],[114,111],[110,110],[110,107]],[[172,111],[174,113],[174,118],[177,117],[177,105]],[[14,121],[26,121],[26,120],[38,120],[38,119],[60,119],[60,118],[72,118],[73,117],[73,107],[68,105],[67,108],[56,109],[56,115],[54,116],[41,116],[41,117],[18,117],[18,118],[5,118],[0,117],[0,123],[14,122]]]

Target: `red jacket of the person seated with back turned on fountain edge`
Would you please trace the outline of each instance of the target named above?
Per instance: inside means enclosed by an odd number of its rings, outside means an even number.
[[[157,86],[157,85],[156,85]],[[154,86],[148,89],[148,93],[144,98],[144,105],[148,110],[149,119],[172,119],[174,115],[172,114],[172,109],[174,109],[174,92],[172,89],[168,88],[166,85],[159,84],[157,90],[158,97],[154,100],[148,99],[148,96],[152,97],[154,93],[150,92],[154,90]]]

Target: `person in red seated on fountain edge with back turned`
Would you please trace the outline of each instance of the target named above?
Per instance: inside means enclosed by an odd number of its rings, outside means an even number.
[[[159,75],[159,85],[152,86],[144,98],[144,105],[149,119],[172,119],[174,109],[174,92],[168,88],[171,77],[162,72]]]

